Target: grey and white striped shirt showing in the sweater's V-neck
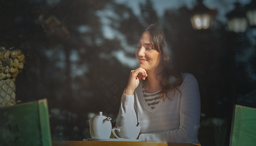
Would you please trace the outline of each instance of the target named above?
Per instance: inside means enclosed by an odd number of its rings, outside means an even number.
[[[159,95],[159,92],[161,90],[159,90],[159,91],[157,91],[155,93],[147,93],[147,91],[144,89],[144,86],[142,84],[143,96],[144,96],[144,99],[146,100],[146,103],[148,104],[149,107],[154,109],[155,106],[157,106],[157,104],[161,100],[161,97]]]

